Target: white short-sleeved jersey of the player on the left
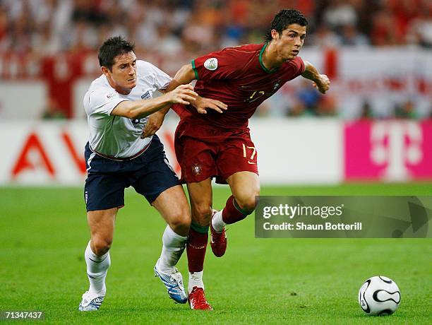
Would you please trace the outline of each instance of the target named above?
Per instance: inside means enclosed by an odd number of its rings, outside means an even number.
[[[136,61],[136,86],[128,95],[117,93],[103,74],[95,79],[83,101],[90,128],[90,148],[113,158],[132,157],[143,150],[152,140],[151,136],[140,138],[147,118],[132,120],[111,112],[124,100],[152,98],[155,90],[167,88],[170,81],[167,73],[142,60]]]

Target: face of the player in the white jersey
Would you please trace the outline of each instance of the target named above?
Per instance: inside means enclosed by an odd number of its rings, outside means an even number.
[[[131,93],[136,86],[136,55],[133,52],[119,54],[114,58],[112,71],[102,68],[109,84],[123,95]]]

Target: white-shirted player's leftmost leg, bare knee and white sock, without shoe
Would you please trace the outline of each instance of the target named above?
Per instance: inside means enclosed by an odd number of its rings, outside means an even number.
[[[105,278],[111,259],[109,248],[114,235],[114,223],[119,208],[88,211],[87,220],[90,227],[90,242],[85,249],[85,263],[90,281],[90,293],[105,293]]]

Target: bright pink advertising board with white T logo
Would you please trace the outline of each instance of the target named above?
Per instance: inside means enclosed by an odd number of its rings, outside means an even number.
[[[431,179],[432,122],[354,122],[344,127],[347,180]]]

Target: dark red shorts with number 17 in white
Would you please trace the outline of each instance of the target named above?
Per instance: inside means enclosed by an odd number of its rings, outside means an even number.
[[[249,129],[224,130],[196,119],[181,119],[174,146],[181,166],[181,182],[201,182],[216,177],[219,184],[235,172],[258,175],[257,152]]]

